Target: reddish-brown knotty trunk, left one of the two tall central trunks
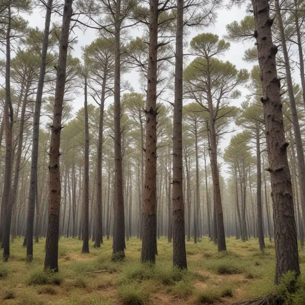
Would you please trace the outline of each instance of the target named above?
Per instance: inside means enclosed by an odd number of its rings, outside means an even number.
[[[155,262],[156,236],[156,188],[157,188],[157,48],[158,48],[158,0],[150,1],[149,57],[146,98],[145,143],[145,196],[142,228],[142,262]]]

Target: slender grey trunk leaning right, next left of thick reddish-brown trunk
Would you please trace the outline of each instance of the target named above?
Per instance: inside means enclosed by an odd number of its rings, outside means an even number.
[[[41,51],[41,66],[39,73],[38,88],[35,101],[34,110],[34,122],[33,122],[33,138],[32,138],[32,160],[31,160],[31,177],[30,177],[30,190],[28,198],[28,210],[27,210],[27,257],[31,259],[33,257],[33,225],[34,225],[34,213],[35,213],[35,196],[37,188],[37,163],[38,163],[38,138],[39,138],[39,122],[40,122],[40,110],[41,100],[43,93],[43,85],[45,79],[45,68],[47,63],[48,52],[48,39],[51,21],[52,0],[48,0],[45,15],[45,30],[43,36],[43,45]]]

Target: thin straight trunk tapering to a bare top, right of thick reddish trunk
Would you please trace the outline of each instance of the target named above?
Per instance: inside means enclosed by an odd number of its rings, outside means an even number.
[[[89,253],[89,123],[87,103],[87,79],[85,77],[85,156],[84,156],[84,190],[83,190],[83,247],[82,253]],[[97,235],[98,236],[98,235]],[[99,240],[99,239],[98,239]]]

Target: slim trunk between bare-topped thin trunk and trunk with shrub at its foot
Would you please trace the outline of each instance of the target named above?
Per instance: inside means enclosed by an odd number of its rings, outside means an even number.
[[[97,225],[94,246],[99,248],[103,242],[103,221],[102,221],[102,145],[103,145],[103,119],[104,119],[104,102],[105,102],[105,88],[106,88],[106,70],[104,67],[104,77],[102,82],[102,96],[101,104],[99,106],[99,138],[97,147],[97,185],[96,185],[96,207],[97,207]]]

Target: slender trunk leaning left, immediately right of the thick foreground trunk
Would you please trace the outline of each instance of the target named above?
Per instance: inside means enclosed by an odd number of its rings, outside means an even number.
[[[305,160],[304,160],[302,136],[301,136],[299,119],[298,119],[298,113],[296,110],[296,102],[295,102],[294,93],[293,93],[293,83],[292,83],[292,77],[291,77],[291,71],[290,71],[290,65],[289,65],[289,55],[288,55],[288,51],[287,51],[284,26],[283,26],[281,9],[280,9],[278,0],[275,1],[275,9],[277,11],[278,25],[279,25],[279,31],[280,31],[280,35],[281,35],[281,41],[282,41],[281,44],[282,44],[282,51],[283,51],[283,55],[284,55],[284,65],[285,65],[287,89],[288,89],[288,95],[289,95],[289,101],[290,101],[291,117],[292,117],[292,122],[293,122],[294,139],[296,141],[296,156],[298,158],[298,165],[299,165],[299,185],[300,185],[302,214],[303,214],[303,221],[304,221],[304,219],[305,219]]]

